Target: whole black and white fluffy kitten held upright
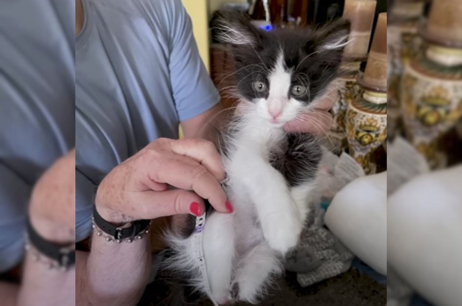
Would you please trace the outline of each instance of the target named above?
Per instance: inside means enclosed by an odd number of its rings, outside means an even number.
[[[339,76],[349,23],[265,32],[242,14],[221,12],[215,25],[217,38],[231,47],[241,104],[219,143],[234,213],[209,210],[204,256],[213,300],[256,303],[298,242],[322,157],[314,136],[282,127],[315,108]],[[306,93],[295,96],[297,85]],[[167,264],[205,293],[191,237],[167,235],[173,250]]]

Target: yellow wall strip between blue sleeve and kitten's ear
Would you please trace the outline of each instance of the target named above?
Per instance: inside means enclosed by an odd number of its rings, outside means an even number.
[[[182,0],[182,2],[193,22],[194,38],[199,54],[207,71],[210,72],[207,0]]]

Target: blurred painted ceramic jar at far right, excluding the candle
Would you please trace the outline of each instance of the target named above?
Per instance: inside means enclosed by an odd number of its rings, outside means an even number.
[[[432,168],[444,167],[438,141],[462,116],[462,49],[430,46],[405,68],[401,110],[409,141]]]

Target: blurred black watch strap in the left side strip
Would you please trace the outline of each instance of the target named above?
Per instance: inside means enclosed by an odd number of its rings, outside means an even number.
[[[42,236],[36,232],[32,224],[30,224],[29,218],[27,218],[27,235],[30,244],[33,245],[37,251],[57,261],[60,267],[68,268],[75,264],[74,243],[59,245],[43,239]]]

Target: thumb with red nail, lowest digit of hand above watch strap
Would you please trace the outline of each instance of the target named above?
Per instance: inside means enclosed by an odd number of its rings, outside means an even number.
[[[166,190],[140,192],[135,199],[140,205],[138,218],[154,219],[176,214],[201,216],[205,212],[204,200],[192,191]]]

